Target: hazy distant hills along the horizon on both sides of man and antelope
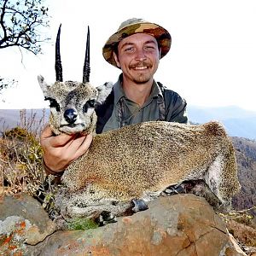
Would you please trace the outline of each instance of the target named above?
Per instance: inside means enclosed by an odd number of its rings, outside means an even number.
[[[225,108],[204,108],[189,106],[189,120],[193,123],[206,123],[210,120],[222,122],[230,137],[245,137],[256,140],[256,111],[247,111],[234,106]],[[36,114],[36,119],[49,118],[49,109],[26,110],[26,118]],[[4,123],[4,124],[3,124]],[[4,127],[20,124],[19,109],[0,109],[0,131]]]

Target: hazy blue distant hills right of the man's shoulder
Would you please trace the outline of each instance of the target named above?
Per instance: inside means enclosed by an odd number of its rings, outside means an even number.
[[[236,106],[224,108],[188,107],[189,120],[206,123],[210,120],[222,122],[231,137],[245,137],[256,140],[256,111]]]

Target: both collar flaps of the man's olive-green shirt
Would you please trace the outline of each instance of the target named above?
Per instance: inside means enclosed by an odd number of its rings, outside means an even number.
[[[113,94],[114,94],[114,104],[117,104],[122,97],[125,97],[125,91],[122,87],[122,73],[119,75],[119,79],[115,84],[113,84]],[[160,86],[153,80],[153,87],[148,98],[156,98],[163,97],[162,91],[160,90]]]

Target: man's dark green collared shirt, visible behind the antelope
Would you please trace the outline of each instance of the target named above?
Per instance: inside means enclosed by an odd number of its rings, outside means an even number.
[[[140,107],[136,102],[132,102],[125,96],[125,91],[121,85],[121,75],[119,80],[113,84],[113,113],[103,127],[103,131],[110,131],[120,128],[119,111],[122,102],[123,125],[133,125],[152,120],[160,120],[161,102],[166,101],[166,121],[188,123],[186,113],[186,102],[176,92],[166,90],[167,98],[164,98],[160,85],[153,82],[152,90],[148,100]]]

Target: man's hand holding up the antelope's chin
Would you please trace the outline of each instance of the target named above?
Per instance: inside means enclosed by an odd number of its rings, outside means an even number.
[[[54,136],[47,126],[40,137],[41,147],[44,150],[44,165],[56,174],[61,174],[73,160],[78,159],[88,150],[91,141],[91,134]]]

